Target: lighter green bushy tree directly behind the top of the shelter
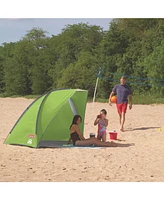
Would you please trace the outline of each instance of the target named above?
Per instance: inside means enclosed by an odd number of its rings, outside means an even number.
[[[99,61],[90,52],[81,52],[78,61],[70,64],[58,79],[59,88],[80,88],[93,96]]]

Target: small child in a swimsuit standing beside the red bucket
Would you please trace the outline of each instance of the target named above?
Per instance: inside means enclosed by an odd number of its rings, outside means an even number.
[[[106,127],[108,126],[108,119],[106,119],[107,111],[102,109],[100,115],[97,115],[94,125],[98,124],[97,139],[106,142]]]

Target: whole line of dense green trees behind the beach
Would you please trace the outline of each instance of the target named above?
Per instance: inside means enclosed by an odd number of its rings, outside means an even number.
[[[108,98],[121,74],[134,92],[164,95],[164,19],[113,19],[109,29],[79,23],[47,36],[33,28],[18,42],[0,46],[0,93],[43,94],[81,88]]]

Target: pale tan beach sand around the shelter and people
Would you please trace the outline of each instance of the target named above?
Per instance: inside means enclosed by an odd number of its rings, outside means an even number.
[[[117,143],[129,147],[102,149],[33,149],[3,144],[9,131],[32,102],[24,98],[0,98],[1,182],[157,182],[164,181],[164,105],[133,105],[120,134],[115,105],[87,104],[85,134],[102,108],[108,111],[108,130],[118,131]],[[159,130],[159,128],[161,128]],[[107,135],[109,140],[109,135]]]

